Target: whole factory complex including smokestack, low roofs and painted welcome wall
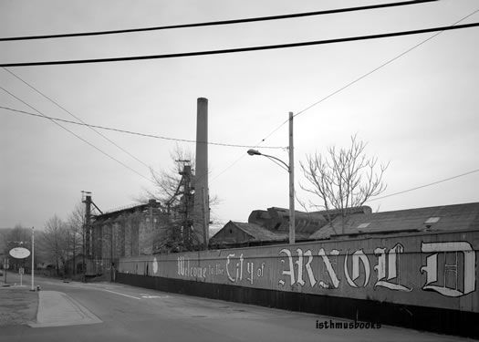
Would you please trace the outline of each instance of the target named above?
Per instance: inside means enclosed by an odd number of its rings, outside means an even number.
[[[209,236],[207,109],[174,205],[87,218],[89,275],[187,295],[479,337],[479,202],[372,212],[269,207]],[[91,197],[86,205],[93,205]],[[89,212],[89,209],[87,209]]]

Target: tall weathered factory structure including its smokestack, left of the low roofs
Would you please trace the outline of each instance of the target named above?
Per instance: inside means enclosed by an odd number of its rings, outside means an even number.
[[[172,200],[101,212],[90,192],[86,206],[86,275],[112,275],[121,257],[206,249],[209,241],[208,99],[197,99],[196,160],[183,161]],[[98,214],[93,215],[96,209]]]

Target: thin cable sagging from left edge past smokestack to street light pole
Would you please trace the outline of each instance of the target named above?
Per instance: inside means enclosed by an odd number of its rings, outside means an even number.
[[[85,122],[78,122],[78,121],[72,121],[72,120],[68,120],[68,119],[59,119],[59,118],[54,118],[54,117],[48,117],[47,115],[44,115],[44,114],[35,114],[35,113],[31,113],[31,112],[29,112],[29,111],[20,110],[20,109],[12,109],[12,108],[5,107],[5,106],[0,106],[0,109],[6,109],[6,110],[14,111],[14,112],[16,112],[16,113],[25,114],[25,115],[30,115],[30,116],[37,117],[37,118],[42,118],[42,119],[50,119],[50,120],[53,120],[53,121],[66,122],[66,123],[71,123],[71,124],[73,124],[73,125],[86,126],[86,127],[90,127],[90,128],[99,129],[99,130],[112,130],[112,131],[116,131],[116,132],[120,132],[120,133],[127,133],[127,134],[131,134],[131,135],[138,135],[138,136],[141,136],[141,137],[155,138],[155,139],[161,139],[161,140],[180,141],[180,142],[193,142],[193,143],[199,142],[199,143],[204,143],[204,141],[178,139],[178,138],[168,138],[168,137],[162,137],[162,136],[160,136],[160,135],[147,134],[147,133],[139,133],[139,132],[135,132],[135,131],[131,131],[131,130],[120,130],[120,129],[113,129],[113,128],[110,128],[110,127],[104,127],[104,126],[98,126],[98,125],[90,125],[90,124],[85,123]],[[35,109],[35,110],[36,110],[36,109]],[[255,146],[251,146],[251,145],[236,145],[236,144],[227,144],[227,143],[223,143],[223,142],[207,142],[207,143],[208,143],[209,145],[217,145],[217,146],[225,146],[225,147],[237,147],[237,148],[243,148],[243,149],[245,149],[245,148],[255,148]],[[284,149],[284,147],[280,147],[280,146],[266,146],[265,149]]]

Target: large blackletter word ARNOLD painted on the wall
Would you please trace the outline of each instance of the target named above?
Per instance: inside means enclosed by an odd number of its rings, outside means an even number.
[[[363,249],[354,253],[346,250],[344,253],[344,265],[342,275],[347,284],[352,288],[366,287],[372,284],[374,288],[383,287],[395,291],[411,292],[412,285],[404,284],[400,277],[401,254],[404,254],[404,246],[396,244],[389,250],[385,247],[375,248],[375,265],[372,270],[376,275],[371,275],[371,262]],[[434,291],[441,295],[457,297],[467,295],[475,291],[475,252],[471,244],[467,242],[448,243],[422,243],[421,252],[429,254],[425,265],[418,265],[418,272],[426,273],[426,283],[422,285],[424,291]],[[318,266],[312,266],[313,252],[296,249],[293,255],[288,248],[279,251],[283,270],[278,284],[284,285],[309,285],[325,289],[337,289],[341,283],[339,276],[337,249],[329,253],[323,248],[318,251],[324,275],[316,274]],[[442,254],[441,263],[438,262]],[[441,277],[440,277],[441,275]],[[374,278],[374,279],[372,279]],[[231,279],[230,279],[231,280]],[[440,283],[442,283],[440,285]]]

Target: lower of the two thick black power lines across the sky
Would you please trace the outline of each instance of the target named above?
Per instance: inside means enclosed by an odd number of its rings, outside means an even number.
[[[131,60],[220,55],[220,54],[231,54],[231,53],[237,53],[237,52],[247,52],[247,51],[272,50],[272,49],[289,48],[289,47],[309,47],[309,46],[326,45],[326,44],[333,44],[333,43],[345,43],[345,42],[352,42],[352,41],[359,41],[359,40],[388,38],[392,36],[420,35],[420,34],[430,33],[430,32],[457,30],[457,29],[470,28],[475,26],[479,26],[479,23],[471,23],[471,24],[464,24],[464,25],[458,25],[458,26],[441,26],[441,27],[423,28],[419,30],[390,32],[390,33],[370,35],[370,36],[348,36],[344,38],[334,38],[334,39],[316,40],[316,41],[299,42],[299,43],[288,43],[288,44],[279,44],[279,45],[270,45],[270,46],[237,47],[237,48],[229,48],[229,49],[221,49],[221,50],[180,52],[180,53],[165,54],[165,55],[109,57],[109,58],[72,59],[72,60],[50,60],[50,61],[43,61],[43,62],[23,62],[23,63],[4,63],[4,64],[0,64],[0,67],[35,67],[35,66],[124,62],[124,61],[131,61]]]

